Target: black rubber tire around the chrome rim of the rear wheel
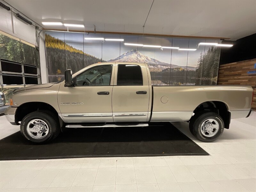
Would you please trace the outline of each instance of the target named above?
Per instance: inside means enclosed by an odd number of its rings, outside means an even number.
[[[219,129],[214,133],[213,136],[210,135],[209,132],[204,133],[205,135],[209,134],[209,136],[205,136],[202,131],[201,131],[201,126],[202,124],[207,120],[207,119],[213,119],[213,123],[219,125]],[[193,128],[193,135],[201,141],[204,142],[212,142],[217,140],[223,133],[224,131],[224,121],[221,118],[221,116],[217,113],[214,112],[204,112],[201,113],[200,115],[196,115],[194,117],[194,120],[191,123],[191,127]],[[213,132],[216,129],[213,129]]]

